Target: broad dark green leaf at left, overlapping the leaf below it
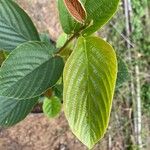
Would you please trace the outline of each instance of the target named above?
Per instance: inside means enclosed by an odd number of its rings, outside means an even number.
[[[30,99],[41,95],[60,78],[64,62],[42,42],[17,47],[0,70],[0,95]]]

